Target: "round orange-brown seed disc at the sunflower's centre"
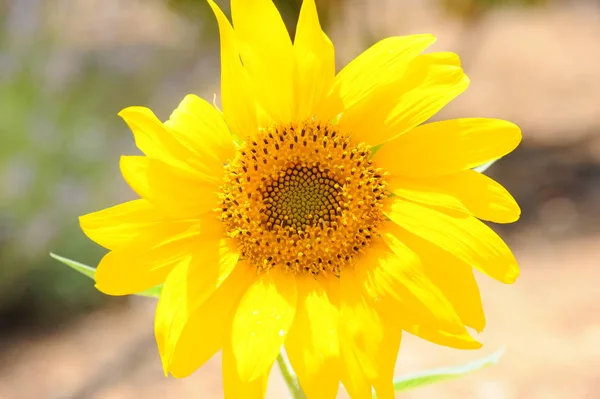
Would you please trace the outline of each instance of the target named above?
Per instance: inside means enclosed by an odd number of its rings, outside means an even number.
[[[365,144],[307,122],[261,130],[227,166],[221,219],[259,271],[339,275],[383,221],[385,181]]]

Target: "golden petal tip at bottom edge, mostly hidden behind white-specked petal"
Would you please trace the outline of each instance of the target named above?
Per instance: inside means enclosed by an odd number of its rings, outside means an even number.
[[[238,360],[229,343],[223,347],[223,390],[225,399],[263,399],[267,392],[269,371],[273,362],[264,373],[252,381],[246,381],[238,373]]]

